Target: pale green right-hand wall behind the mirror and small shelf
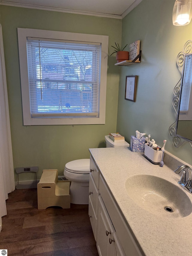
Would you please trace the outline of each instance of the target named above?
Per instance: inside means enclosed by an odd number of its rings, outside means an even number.
[[[159,146],[192,164],[188,143],[175,148],[168,129],[176,121],[172,107],[173,89],[181,74],[176,57],[187,40],[192,40],[192,22],[173,26],[175,0],[143,0],[122,22],[122,45],[141,40],[141,63],[121,67],[117,131],[130,142],[135,131],[151,134]],[[125,100],[125,77],[137,75],[136,102]]]

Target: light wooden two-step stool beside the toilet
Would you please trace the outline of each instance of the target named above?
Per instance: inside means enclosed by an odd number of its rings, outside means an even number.
[[[58,180],[58,170],[43,170],[37,184],[38,209],[49,206],[70,208],[70,181]]]

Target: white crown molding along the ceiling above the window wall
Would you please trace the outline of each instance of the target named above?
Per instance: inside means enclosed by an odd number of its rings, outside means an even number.
[[[7,1],[3,1],[3,0],[0,0],[0,5],[8,5],[8,6],[15,6],[15,7],[22,7],[22,8],[31,8],[31,9],[39,9],[39,10],[46,10],[46,11],[58,11],[58,12],[64,12],[64,13],[82,14],[82,15],[90,15],[90,16],[96,16],[96,17],[105,17],[105,18],[113,18],[113,19],[122,20],[121,15],[103,14],[103,13],[86,12],[86,11],[76,11],[76,10],[57,8],[57,7],[48,7],[48,6],[42,6],[42,5],[27,5],[27,4],[7,2]]]

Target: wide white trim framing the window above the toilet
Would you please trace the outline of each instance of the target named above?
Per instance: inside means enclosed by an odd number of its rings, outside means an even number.
[[[82,125],[82,124],[105,124],[106,87],[107,87],[107,57],[108,36],[89,35],[70,32],[58,32],[40,29],[17,29],[19,42],[19,62],[21,76],[23,125]],[[99,117],[91,118],[40,118],[31,117],[29,101],[29,80],[27,67],[27,37],[47,38],[70,41],[84,41],[101,43],[101,77],[99,95]]]

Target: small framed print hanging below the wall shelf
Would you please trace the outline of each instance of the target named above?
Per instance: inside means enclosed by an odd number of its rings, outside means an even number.
[[[135,102],[136,88],[137,88],[137,76],[126,76],[125,100]]]

